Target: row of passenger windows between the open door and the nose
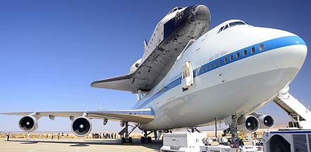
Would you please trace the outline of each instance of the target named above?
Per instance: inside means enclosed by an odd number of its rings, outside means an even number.
[[[259,51],[263,51],[263,50],[264,50],[264,44],[260,44]],[[196,75],[200,75],[206,72],[207,70],[212,70],[213,68],[217,68],[217,66],[230,63],[233,61],[234,56],[236,56],[236,59],[239,59],[241,58],[241,56],[248,56],[248,53],[253,54],[255,53],[255,46],[252,46],[250,51],[248,51],[248,49],[245,49],[242,53],[243,54],[241,54],[240,51],[238,51],[235,54],[231,54],[230,56],[225,56],[223,59],[220,58],[218,61],[214,61],[214,63],[209,63],[208,65],[204,65],[202,68],[196,71],[197,72]]]

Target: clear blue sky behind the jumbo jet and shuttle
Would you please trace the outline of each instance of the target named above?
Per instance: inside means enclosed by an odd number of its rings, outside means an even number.
[[[0,1],[0,112],[131,108],[136,96],[90,82],[128,72],[144,39],[176,6],[205,4],[215,27],[230,19],[293,32],[311,44],[311,1]],[[291,92],[311,104],[311,58]],[[273,104],[262,111],[288,117]],[[0,115],[0,131],[17,131],[19,116]],[[119,130],[94,120],[94,130]],[[68,118],[39,120],[39,131],[70,130]]]

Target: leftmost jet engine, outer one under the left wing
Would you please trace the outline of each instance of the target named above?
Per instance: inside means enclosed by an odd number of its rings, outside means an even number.
[[[38,129],[38,120],[32,115],[28,115],[20,119],[18,126],[24,132],[33,132]]]

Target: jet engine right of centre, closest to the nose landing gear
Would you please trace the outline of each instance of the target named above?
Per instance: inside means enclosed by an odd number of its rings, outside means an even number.
[[[238,131],[240,132],[256,132],[260,128],[259,120],[253,115],[238,118],[238,122],[240,122],[238,123]]]

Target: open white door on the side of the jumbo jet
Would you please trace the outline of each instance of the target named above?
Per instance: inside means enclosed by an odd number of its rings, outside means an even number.
[[[190,61],[187,61],[182,66],[181,84],[183,91],[187,91],[193,85],[193,66]]]

